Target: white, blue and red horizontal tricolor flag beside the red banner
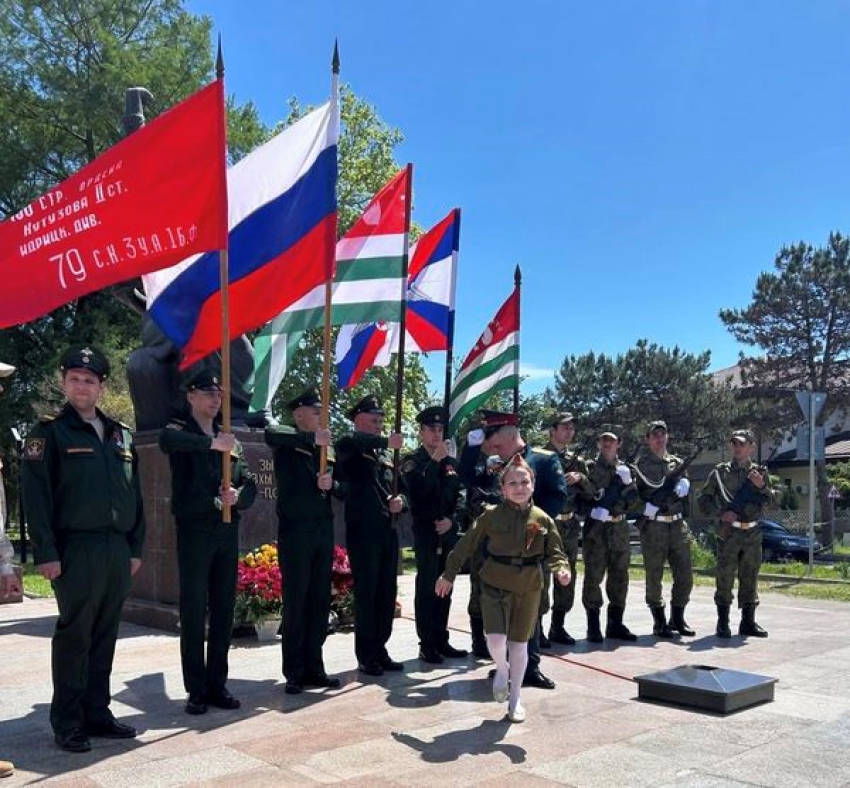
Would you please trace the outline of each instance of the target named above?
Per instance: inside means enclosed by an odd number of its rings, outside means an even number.
[[[339,110],[330,101],[227,171],[230,336],[333,276]],[[145,277],[148,310],[185,368],[221,346],[217,253]]]

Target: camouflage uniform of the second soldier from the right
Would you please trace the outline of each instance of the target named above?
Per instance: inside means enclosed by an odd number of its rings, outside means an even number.
[[[635,481],[642,501],[658,506],[654,517],[641,516],[640,544],[643,553],[643,565],[646,571],[646,604],[656,619],[656,635],[669,637],[672,632],[666,626],[664,617],[664,597],[661,583],[664,577],[664,563],[669,562],[673,575],[670,592],[670,605],[678,629],[678,618],[684,616],[684,608],[691,597],[694,585],[691,566],[691,532],[685,520],[687,498],[675,494],[665,500],[653,500],[653,493],[664,484],[670,473],[681,464],[678,457],[666,454],[659,457],[654,452],[645,452],[635,463]],[[687,628],[687,627],[685,627]],[[682,633],[685,634],[685,633]]]

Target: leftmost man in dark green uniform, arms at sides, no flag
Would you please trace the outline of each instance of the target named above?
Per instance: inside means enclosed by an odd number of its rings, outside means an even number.
[[[36,568],[59,607],[50,723],[59,747],[87,752],[90,736],[136,735],[109,710],[109,677],[145,521],[130,428],[97,407],[106,357],[72,347],[61,370],[67,402],[30,430],[21,478]]]

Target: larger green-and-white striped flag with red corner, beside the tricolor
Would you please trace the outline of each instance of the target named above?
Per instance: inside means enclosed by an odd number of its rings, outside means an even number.
[[[336,246],[331,323],[398,321],[403,298],[403,257],[407,227],[408,168],[399,171],[367,206]],[[304,331],[325,320],[325,287],[314,287],[287,307],[254,342],[251,410],[271,405],[286,373],[287,359]]]

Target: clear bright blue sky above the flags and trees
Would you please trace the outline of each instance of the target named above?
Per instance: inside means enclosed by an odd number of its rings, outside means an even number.
[[[458,355],[521,265],[524,393],[641,338],[733,364],[718,310],[783,245],[850,232],[846,0],[188,7],[269,124],[325,99],[339,38],[343,81],[405,135],[416,221],[463,210]]]

